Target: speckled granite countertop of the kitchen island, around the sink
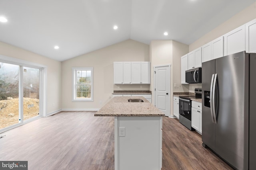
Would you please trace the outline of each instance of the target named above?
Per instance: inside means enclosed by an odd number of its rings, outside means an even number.
[[[128,99],[142,99],[144,102],[128,102]],[[164,113],[143,97],[114,97],[97,111],[94,116],[164,116]]]

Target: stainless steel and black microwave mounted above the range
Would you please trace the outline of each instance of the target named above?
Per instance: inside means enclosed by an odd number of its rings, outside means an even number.
[[[187,70],[186,83],[202,83],[202,67]]]

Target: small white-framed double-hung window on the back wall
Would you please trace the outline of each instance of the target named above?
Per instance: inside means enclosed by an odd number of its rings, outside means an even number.
[[[93,102],[93,67],[73,67],[73,102]]]

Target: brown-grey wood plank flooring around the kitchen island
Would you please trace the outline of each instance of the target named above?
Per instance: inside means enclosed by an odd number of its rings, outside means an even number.
[[[28,160],[28,170],[114,170],[114,117],[94,113],[62,111],[1,133],[0,160]],[[162,150],[162,170],[232,169],[176,119],[163,117]]]

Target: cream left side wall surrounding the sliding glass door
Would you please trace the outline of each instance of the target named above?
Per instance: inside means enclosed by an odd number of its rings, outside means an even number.
[[[61,62],[0,42],[0,54],[43,64],[47,66],[46,115],[60,111],[61,104]],[[54,103],[54,106],[53,106]]]

